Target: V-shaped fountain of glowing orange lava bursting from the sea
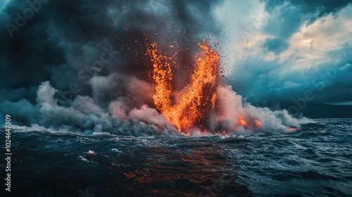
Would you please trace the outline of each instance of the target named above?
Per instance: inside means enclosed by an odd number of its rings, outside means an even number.
[[[153,103],[176,125],[179,132],[187,133],[194,127],[202,129],[203,121],[215,108],[220,56],[206,41],[199,43],[199,47],[201,53],[196,55],[194,73],[187,87],[179,94],[172,89],[172,57],[159,51],[155,42],[147,50],[153,63],[152,77],[156,84]]]

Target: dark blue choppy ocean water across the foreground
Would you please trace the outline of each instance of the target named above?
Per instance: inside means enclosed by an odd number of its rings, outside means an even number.
[[[352,196],[352,119],[238,136],[18,129],[11,144],[1,196]]]

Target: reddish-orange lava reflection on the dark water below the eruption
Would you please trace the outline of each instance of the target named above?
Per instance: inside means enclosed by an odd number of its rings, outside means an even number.
[[[230,184],[235,177],[233,172],[227,172],[234,161],[227,160],[220,146],[215,145],[191,149],[145,148],[137,158],[138,167],[123,174],[134,183],[129,188],[130,192],[135,191],[137,186],[150,196],[163,196],[165,193],[170,196],[196,196],[203,190],[213,189],[215,184],[216,191],[201,193],[201,196],[206,196],[206,193],[222,191],[219,187],[225,189],[225,184]]]

